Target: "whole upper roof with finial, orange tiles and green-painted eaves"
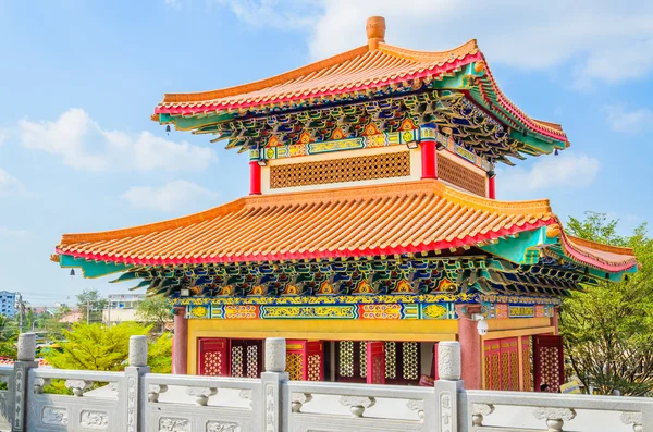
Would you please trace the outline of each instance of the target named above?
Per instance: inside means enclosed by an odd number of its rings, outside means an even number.
[[[518,152],[541,155],[568,146],[559,125],[528,116],[504,96],[476,40],[448,51],[415,51],[385,44],[384,27],[383,18],[369,18],[367,45],[267,79],[212,91],[167,94],[152,118],[161,123],[172,123],[177,129],[222,135],[230,139],[230,147],[241,143],[247,149],[260,146],[264,141],[261,138],[268,137],[263,128],[271,122],[257,124],[255,119],[261,116],[291,115],[334,104],[367,103],[370,121],[377,121],[379,115],[374,115],[374,110],[390,109],[379,107],[377,102],[382,104],[381,101],[389,99],[397,102],[404,98],[404,103],[395,103],[392,109],[398,107],[414,119],[424,112],[432,113],[434,118],[429,122],[442,126],[471,126],[454,131],[454,135],[469,146],[473,147],[475,143],[467,138],[477,129],[490,133],[492,139],[504,139],[503,135],[506,135],[509,141],[505,151],[484,155],[492,162],[506,162],[503,159],[506,153],[514,157],[518,157]],[[470,103],[454,103],[460,95]],[[424,108],[424,103],[430,102],[436,102],[436,107]],[[470,115],[476,119],[469,119]],[[316,120],[312,115],[300,119],[297,121],[299,126],[292,128],[292,133],[309,127],[306,126],[307,119]],[[237,121],[249,122],[234,124]],[[500,127],[490,126],[485,121]],[[280,121],[287,122],[285,118]],[[257,128],[257,134],[250,134],[246,126]],[[316,127],[323,127],[323,123]],[[247,133],[238,134],[238,128]],[[278,131],[273,128],[270,134]],[[247,137],[256,139],[247,141]],[[483,145],[496,147],[492,139],[485,143],[488,134],[477,138],[483,141],[479,144],[481,150]],[[510,153],[508,148],[514,151]]]

